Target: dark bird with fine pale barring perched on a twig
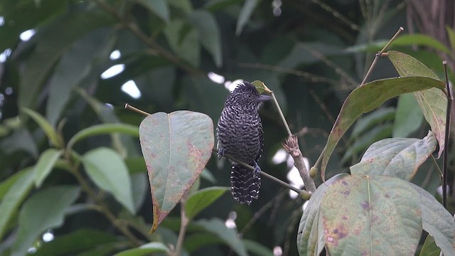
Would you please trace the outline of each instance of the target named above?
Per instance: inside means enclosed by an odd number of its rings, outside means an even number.
[[[230,92],[218,120],[216,137],[218,159],[224,154],[255,167],[252,171],[235,161],[230,174],[232,197],[238,203],[247,203],[259,197],[261,171],[257,161],[262,154],[264,135],[259,107],[262,102],[272,99],[261,95],[250,82],[242,81]]]

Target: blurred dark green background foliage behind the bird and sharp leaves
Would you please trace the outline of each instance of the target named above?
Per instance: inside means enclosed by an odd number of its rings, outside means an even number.
[[[445,27],[455,25],[453,2],[374,2],[1,1],[1,254],[23,255],[34,247],[38,255],[112,255],[143,244],[149,253],[176,244],[178,208],[148,234],[151,196],[138,141],[143,117],[124,110],[125,102],[150,113],[199,111],[216,122],[228,95],[223,82],[262,80],[292,131],[300,131],[301,149],[313,164],[343,100],[399,26],[410,35],[392,48],[439,78],[442,58],[454,68],[449,37],[455,35]],[[29,30],[34,34],[24,40],[21,33]],[[119,58],[109,58],[114,50]],[[103,79],[113,65],[124,70]],[[225,81],[214,82],[208,73]],[[380,60],[371,80],[392,76],[391,63]],[[122,91],[130,80],[141,97]],[[415,104],[403,96],[361,118],[336,148],[326,177],[348,171],[345,166],[378,139],[424,137],[429,127],[412,112]],[[286,131],[272,105],[261,115],[260,164],[286,180],[287,165],[272,161]],[[200,188],[229,186],[229,164],[213,157],[206,169]],[[412,181],[437,196],[439,173],[429,161]],[[281,247],[283,255],[296,255],[303,203],[265,179],[250,207],[224,193],[192,216],[186,253],[271,255]],[[227,220],[235,220],[242,240],[226,228]],[[43,233],[54,240],[43,242]]]

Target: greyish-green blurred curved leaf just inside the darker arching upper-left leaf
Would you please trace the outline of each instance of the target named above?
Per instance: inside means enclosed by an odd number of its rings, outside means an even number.
[[[88,33],[63,53],[49,81],[46,117],[55,127],[65,105],[71,99],[73,87],[92,70],[94,62],[109,57],[114,43],[112,29],[102,28]]]

